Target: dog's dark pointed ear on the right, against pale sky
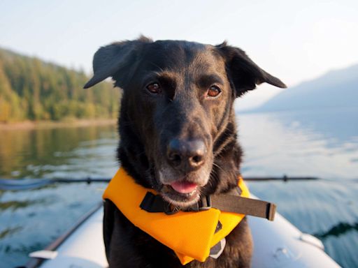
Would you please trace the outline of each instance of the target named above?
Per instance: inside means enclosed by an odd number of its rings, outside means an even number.
[[[226,42],[216,46],[226,61],[227,72],[236,89],[236,96],[256,88],[264,82],[275,87],[286,88],[277,77],[259,68],[240,48],[231,47]]]

